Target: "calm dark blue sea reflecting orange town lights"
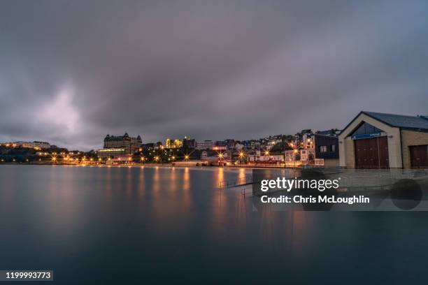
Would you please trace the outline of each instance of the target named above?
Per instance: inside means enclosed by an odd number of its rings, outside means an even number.
[[[54,270],[45,284],[427,284],[428,213],[257,212],[217,189],[243,176],[0,166],[0,270]]]

